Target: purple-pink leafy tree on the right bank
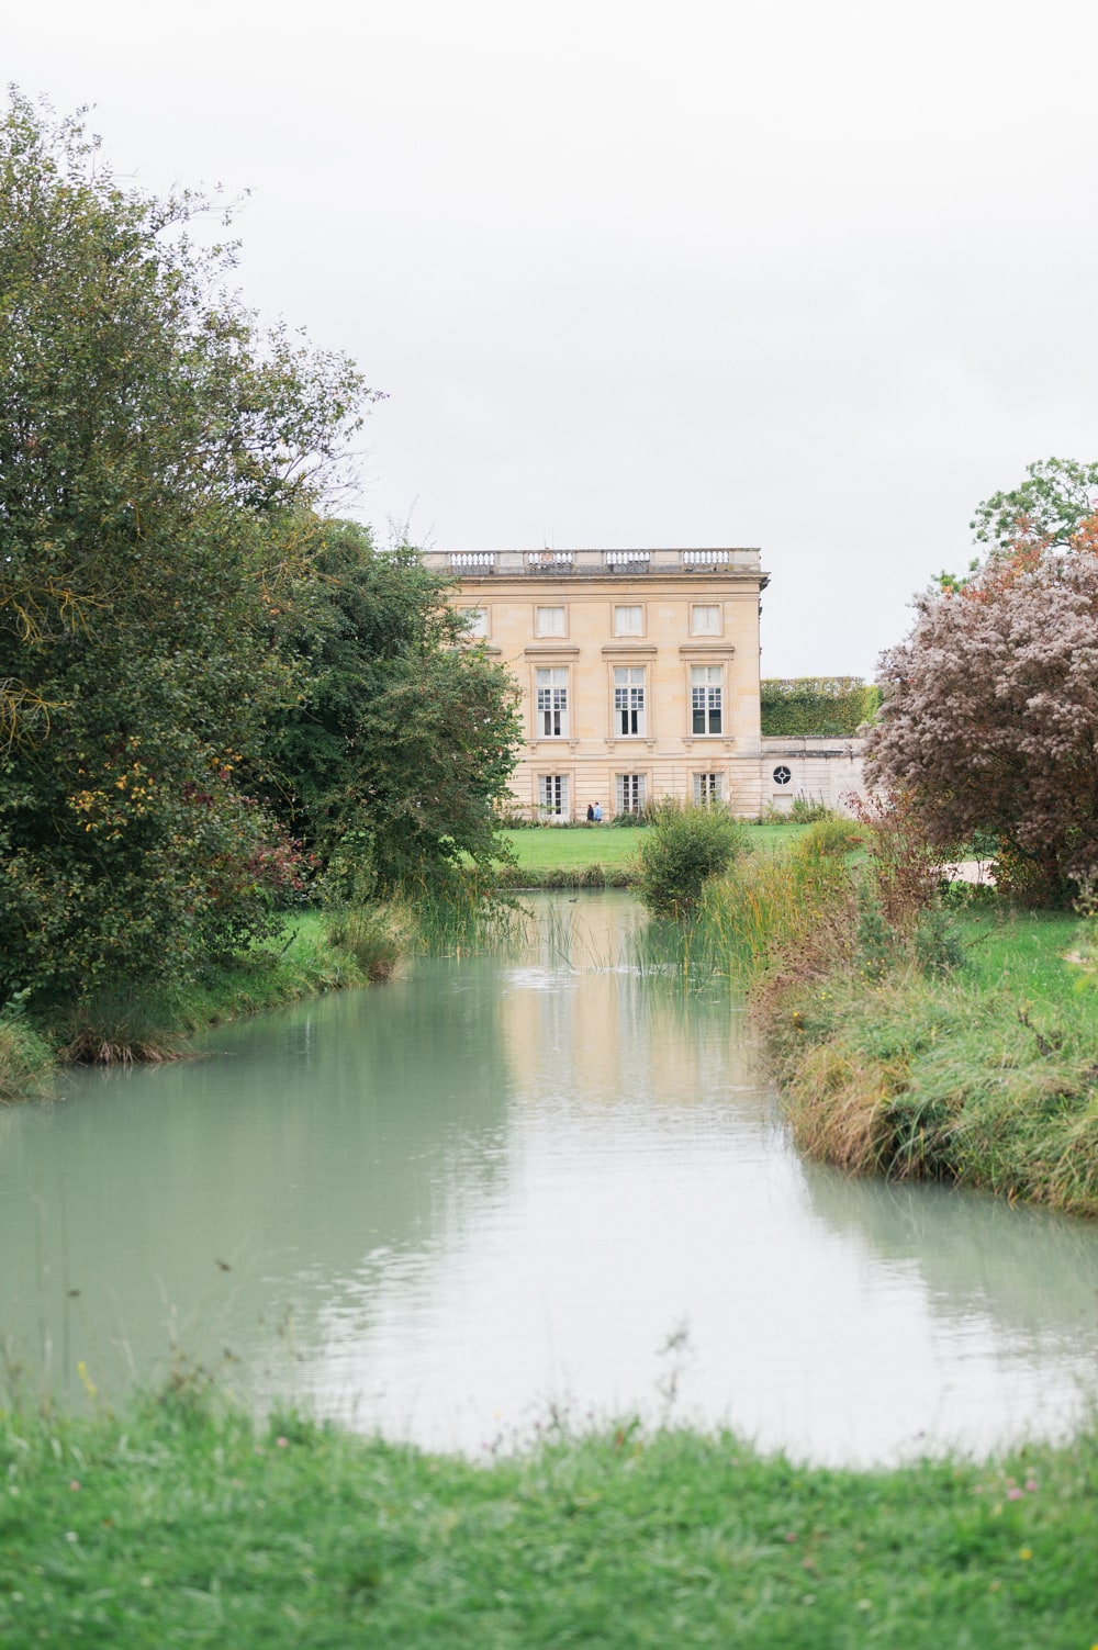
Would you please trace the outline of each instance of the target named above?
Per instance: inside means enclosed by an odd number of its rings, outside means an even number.
[[[867,777],[910,797],[931,843],[986,832],[1040,898],[1098,873],[1098,515],[1067,549],[1019,533],[920,597],[880,685]]]

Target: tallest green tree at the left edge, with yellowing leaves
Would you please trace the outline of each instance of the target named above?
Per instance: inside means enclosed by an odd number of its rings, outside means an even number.
[[[226,295],[208,203],[79,119],[0,122],[0,1002],[178,978],[269,927],[239,771],[363,384]],[[307,531],[304,538],[307,540]]]

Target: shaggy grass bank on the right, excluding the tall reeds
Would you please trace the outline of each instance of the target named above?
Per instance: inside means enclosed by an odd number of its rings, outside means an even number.
[[[766,1018],[797,1143],[1098,1214],[1098,993],[1065,960],[1081,926],[992,906],[956,919],[964,967],[781,992]]]

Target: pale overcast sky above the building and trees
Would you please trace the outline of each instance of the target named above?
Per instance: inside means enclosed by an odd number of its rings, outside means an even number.
[[[872,675],[974,505],[1098,459],[1098,7],[45,0],[3,79],[388,393],[438,549],[758,544],[766,675]],[[1090,388],[1088,388],[1090,386]]]

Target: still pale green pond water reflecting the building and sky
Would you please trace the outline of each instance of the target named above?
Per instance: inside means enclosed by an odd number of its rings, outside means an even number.
[[[632,967],[627,894],[537,911],[523,954],[2,1110],[8,1361],[76,1402],[178,1348],[471,1452],[561,1412],[831,1462],[1081,1416],[1098,1229],[804,1163],[740,1008]]]

